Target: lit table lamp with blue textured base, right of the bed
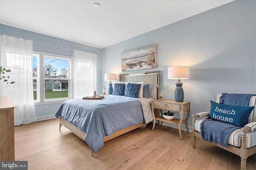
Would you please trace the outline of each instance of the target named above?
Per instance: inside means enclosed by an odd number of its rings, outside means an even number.
[[[173,66],[168,67],[168,79],[178,79],[176,82],[176,89],[174,98],[176,102],[183,102],[184,92],[182,88],[182,82],[180,79],[189,78],[189,66]]]

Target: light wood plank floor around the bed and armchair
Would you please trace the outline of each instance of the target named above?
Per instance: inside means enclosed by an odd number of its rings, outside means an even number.
[[[29,170],[239,170],[240,157],[197,139],[192,147],[191,133],[152,124],[115,139],[91,156],[86,143],[59,119],[15,127],[15,159],[27,160]],[[248,170],[256,169],[255,154],[247,159]]]

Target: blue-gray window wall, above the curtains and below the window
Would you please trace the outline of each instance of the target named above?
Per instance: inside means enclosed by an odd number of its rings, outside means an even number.
[[[65,55],[70,57],[73,57],[74,55],[74,51],[72,49],[77,49],[77,50],[86,51],[89,53],[98,54],[97,56],[97,66],[98,66],[97,67],[97,90],[96,91],[99,94],[101,93],[102,91],[102,88],[101,88],[102,87],[102,69],[101,69],[102,68],[102,49],[79,44],[79,43],[74,43],[72,41],[66,41],[64,39],[59,39],[59,38],[51,37],[48,35],[27,31],[24,29],[19,29],[16,27],[11,27],[4,24],[0,24],[0,34],[1,35],[5,34],[12,37],[19,37],[22,39],[30,39],[34,42],[38,42],[38,43],[33,42],[34,51],[57,54],[57,55]],[[44,44],[48,44],[48,45],[44,45]],[[36,117],[38,118],[38,120],[54,117],[54,114],[57,111],[60,104],[61,104],[60,102],[35,103]],[[48,109],[45,109],[45,105],[47,105]]]

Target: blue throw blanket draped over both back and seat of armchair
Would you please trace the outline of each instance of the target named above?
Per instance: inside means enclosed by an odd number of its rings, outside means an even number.
[[[232,106],[249,106],[250,98],[254,95],[222,93],[220,103]],[[228,147],[228,138],[236,129],[240,129],[240,127],[212,119],[203,120],[200,127],[202,139],[224,147]]]

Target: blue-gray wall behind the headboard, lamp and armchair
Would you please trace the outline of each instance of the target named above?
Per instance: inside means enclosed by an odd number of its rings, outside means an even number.
[[[122,52],[156,43],[154,70],[160,70],[164,99],[174,99],[176,87],[176,80],[167,78],[167,68],[190,66],[190,79],[182,80],[182,87],[184,100],[191,102],[188,125],[192,126],[192,115],[209,111],[216,94],[256,94],[255,11],[256,1],[237,0],[106,47],[102,84],[108,86],[104,73],[121,72]]]

